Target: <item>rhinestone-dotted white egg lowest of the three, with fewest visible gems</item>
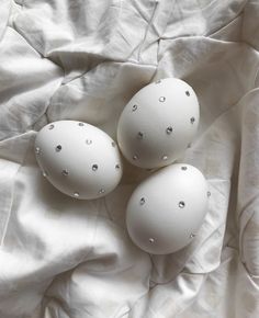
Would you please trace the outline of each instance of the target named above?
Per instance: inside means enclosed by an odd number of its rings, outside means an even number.
[[[153,254],[176,252],[198,234],[207,211],[207,183],[190,164],[151,174],[133,192],[126,209],[132,240]]]

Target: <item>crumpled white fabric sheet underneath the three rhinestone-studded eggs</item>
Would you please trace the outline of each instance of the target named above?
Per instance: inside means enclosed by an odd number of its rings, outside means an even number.
[[[259,317],[258,30],[257,0],[1,0],[1,318]],[[126,102],[162,77],[198,93],[179,161],[211,197],[190,246],[149,255],[124,223],[148,171],[125,162],[114,192],[76,201],[41,175],[33,143],[65,118],[115,138]]]

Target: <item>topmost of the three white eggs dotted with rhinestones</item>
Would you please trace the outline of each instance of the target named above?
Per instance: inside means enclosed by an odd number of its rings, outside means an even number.
[[[119,146],[134,166],[168,166],[193,140],[199,120],[193,89],[180,79],[162,79],[139,90],[123,110],[117,125]]]

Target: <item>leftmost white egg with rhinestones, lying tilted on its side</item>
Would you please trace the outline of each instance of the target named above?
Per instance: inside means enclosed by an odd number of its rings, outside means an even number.
[[[101,197],[119,184],[119,147],[101,129],[76,121],[54,122],[35,139],[37,162],[47,180],[77,198]]]

